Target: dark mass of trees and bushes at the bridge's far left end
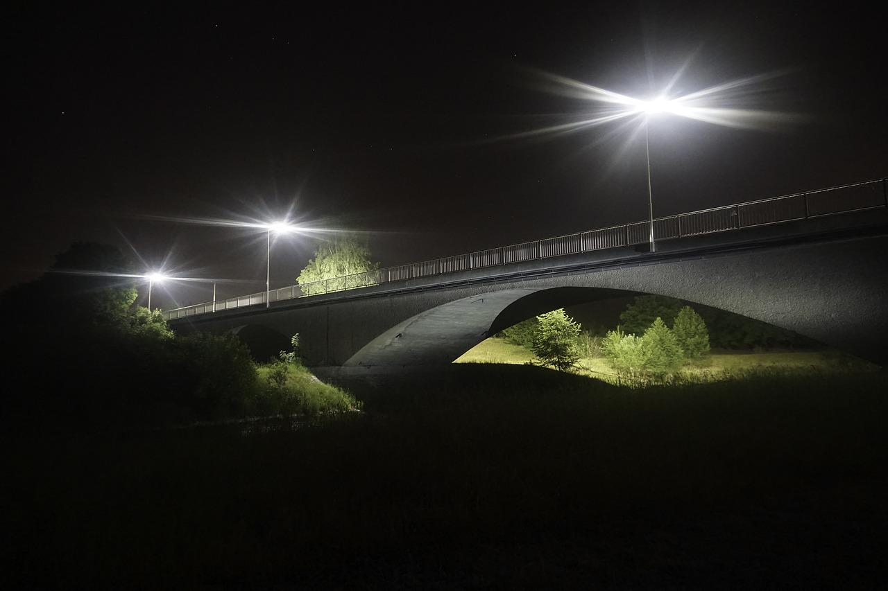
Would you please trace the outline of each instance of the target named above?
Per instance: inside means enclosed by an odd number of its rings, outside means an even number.
[[[256,382],[246,347],[173,335],[135,304],[137,280],[119,249],[78,242],[0,295],[7,420],[105,429],[244,412]]]

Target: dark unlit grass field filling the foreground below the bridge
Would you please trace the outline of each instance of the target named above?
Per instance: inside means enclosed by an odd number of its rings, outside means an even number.
[[[14,588],[882,588],[884,374],[456,366],[307,429],[4,444]],[[429,384],[433,384],[430,386]]]

